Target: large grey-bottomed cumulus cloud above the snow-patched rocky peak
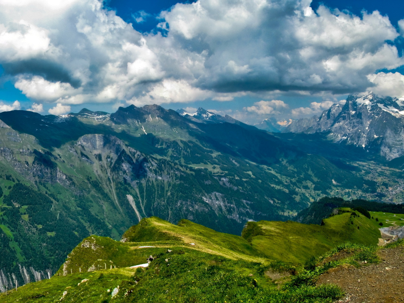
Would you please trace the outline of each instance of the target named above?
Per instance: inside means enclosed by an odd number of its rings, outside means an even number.
[[[200,0],[163,16],[169,38],[208,50],[196,85],[215,91],[352,92],[381,66],[403,63],[385,42],[398,33],[377,11],[360,18],[324,6],[314,14],[310,1]]]

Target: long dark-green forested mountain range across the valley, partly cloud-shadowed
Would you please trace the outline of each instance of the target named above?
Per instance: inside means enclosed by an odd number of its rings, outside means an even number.
[[[377,149],[336,144],[309,128],[271,134],[203,109],[157,105],[11,111],[0,120],[6,276],[55,272],[84,237],[118,240],[150,216],[240,234],[248,221],[293,219],[324,195],[402,199],[401,170]]]

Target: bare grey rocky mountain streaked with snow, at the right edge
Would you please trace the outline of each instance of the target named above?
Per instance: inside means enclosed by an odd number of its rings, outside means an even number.
[[[387,160],[404,155],[404,102],[373,93],[350,95],[344,105],[334,104],[319,118],[293,121],[284,132],[326,132],[337,143],[376,151]]]

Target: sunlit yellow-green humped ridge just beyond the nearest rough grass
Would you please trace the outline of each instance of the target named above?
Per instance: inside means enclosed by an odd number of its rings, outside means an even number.
[[[126,242],[95,235],[85,238],[68,255],[56,275],[143,264],[148,256],[160,254],[170,247],[193,249],[231,260],[266,261],[242,237],[220,233],[188,220],[174,225],[157,217],[144,218],[131,227],[123,239]]]

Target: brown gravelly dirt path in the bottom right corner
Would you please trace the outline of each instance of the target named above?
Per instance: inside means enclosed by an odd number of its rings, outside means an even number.
[[[317,284],[332,283],[345,291],[340,303],[404,302],[404,247],[378,252],[381,263],[361,268],[334,268],[320,276]]]

